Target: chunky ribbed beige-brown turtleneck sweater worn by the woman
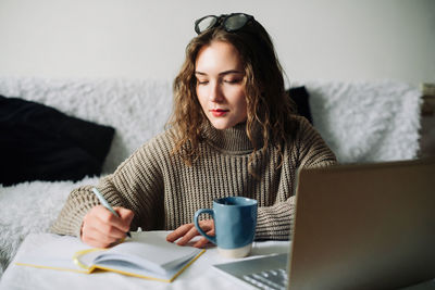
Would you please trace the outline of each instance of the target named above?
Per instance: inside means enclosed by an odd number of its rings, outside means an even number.
[[[253,151],[246,124],[219,130],[207,126],[199,157],[191,166],[171,154],[174,140],[169,130],[154,137],[100,179],[97,188],[112,206],[130,209],[130,230],[172,230],[192,223],[199,209],[227,196],[258,200],[256,239],[288,239],[295,213],[295,181],[299,167],[328,166],[336,162],[319,133],[303,117],[294,117],[297,133],[279,154],[276,147]],[[282,166],[278,166],[283,156]],[[83,218],[98,199],[91,186],[73,190],[51,230],[79,236]]]

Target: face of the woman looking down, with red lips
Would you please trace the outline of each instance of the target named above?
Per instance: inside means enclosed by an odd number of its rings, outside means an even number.
[[[195,76],[199,103],[216,129],[246,121],[245,72],[233,45],[212,41],[202,47],[195,63]]]

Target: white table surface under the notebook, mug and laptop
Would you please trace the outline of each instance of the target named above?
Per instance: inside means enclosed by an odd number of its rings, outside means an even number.
[[[167,231],[170,232],[170,231]],[[213,247],[207,251],[187,269],[185,269],[173,282],[160,282],[125,275],[98,272],[90,275],[41,269],[15,265],[20,256],[35,251],[39,245],[53,239],[51,234],[30,234],[23,241],[11,265],[4,272],[0,280],[1,290],[14,289],[234,289],[240,285],[234,279],[212,267],[213,264],[239,261],[240,259],[227,259],[219,255]],[[252,259],[274,253],[287,253],[289,241],[261,241],[254,242],[250,256]],[[246,286],[246,289],[252,289]]]

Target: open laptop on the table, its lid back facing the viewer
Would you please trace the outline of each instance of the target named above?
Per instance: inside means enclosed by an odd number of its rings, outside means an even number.
[[[435,288],[435,159],[301,169],[296,199],[289,254],[213,266],[260,289]]]

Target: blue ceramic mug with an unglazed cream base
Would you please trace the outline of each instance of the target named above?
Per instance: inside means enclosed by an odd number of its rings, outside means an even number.
[[[228,257],[249,254],[257,227],[258,202],[244,197],[227,197],[213,201],[213,210],[201,209],[195,213],[198,231],[217,245],[217,251]],[[214,220],[215,236],[207,235],[198,224],[201,214],[208,213]]]

